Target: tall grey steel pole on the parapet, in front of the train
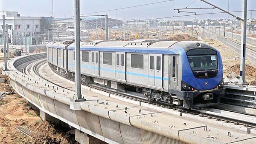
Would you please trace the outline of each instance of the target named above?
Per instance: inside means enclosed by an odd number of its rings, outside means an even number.
[[[81,99],[81,70],[80,70],[80,0],[75,1],[75,80],[76,99]]]

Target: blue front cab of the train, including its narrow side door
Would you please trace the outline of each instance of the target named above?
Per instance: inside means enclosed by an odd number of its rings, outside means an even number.
[[[225,94],[223,65],[219,52],[209,45],[204,45],[206,48],[196,46],[187,51],[177,48],[180,56],[176,56],[176,62],[174,56],[170,57],[172,73],[169,93],[182,100],[181,104],[186,108],[217,105]],[[203,62],[208,63],[205,64],[208,66],[203,66]]]

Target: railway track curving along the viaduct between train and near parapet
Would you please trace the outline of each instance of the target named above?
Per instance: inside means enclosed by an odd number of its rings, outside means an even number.
[[[50,81],[46,77],[42,76],[40,74],[40,72],[38,71],[39,67],[41,65],[44,65],[46,62],[47,62],[46,60],[41,60],[41,61],[35,63],[35,65],[33,65],[32,71],[34,71],[42,79]],[[70,77],[67,78],[65,75],[59,73],[54,68],[51,68],[51,69],[54,73],[57,73],[58,75],[64,77],[65,79],[68,79],[68,80],[74,82],[74,80],[72,78],[70,78]],[[65,88],[65,87],[63,87],[61,85],[58,85],[58,84],[55,84],[55,85],[57,85],[60,88]],[[99,86],[99,85],[85,85],[85,86],[93,88],[93,89],[105,91],[105,92],[108,92],[108,93],[111,93],[111,94],[115,94],[117,96],[122,96],[122,97],[130,98],[130,99],[139,100],[140,102],[146,102],[148,104],[157,105],[157,106],[161,106],[161,107],[168,107],[171,110],[178,110],[179,112],[186,113],[186,114],[192,114],[192,115],[195,115],[195,116],[200,116],[202,118],[215,119],[216,121],[224,121],[224,122],[230,123],[230,124],[241,125],[242,127],[250,127],[250,128],[255,128],[256,127],[256,119],[255,119],[255,121],[251,120],[252,119],[251,116],[247,116],[246,114],[240,114],[239,115],[239,116],[241,116],[242,119],[235,119],[232,116],[230,117],[230,115],[225,116],[225,115],[221,115],[218,112],[215,112],[216,109],[211,109],[211,108],[207,109],[207,110],[185,109],[182,106],[169,105],[169,104],[166,104],[166,103],[163,103],[163,102],[152,102],[152,101],[149,101],[148,99],[145,99],[143,97],[134,95],[133,93],[120,92],[120,91],[113,90],[111,88],[105,88],[105,87],[102,87],[102,86]],[[65,88],[65,89],[69,89],[69,88]],[[69,90],[71,90],[71,89],[69,89]],[[74,91],[74,90],[72,90],[72,91]],[[225,111],[225,113],[231,113],[231,112]]]

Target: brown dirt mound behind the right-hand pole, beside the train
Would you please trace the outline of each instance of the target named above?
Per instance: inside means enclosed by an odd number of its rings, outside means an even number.
[[[240,64],[233,65],[228,67],[227,70],[224,71],[226,75],[230,75],[232,72],[240,75]],[[249,82],[250,85],[256,84],[256,68],[250,65],[245,66],[245,75],[246,81]]]

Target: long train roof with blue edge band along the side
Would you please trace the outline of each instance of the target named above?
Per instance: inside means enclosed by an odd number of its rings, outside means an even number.
[[[67,42],[66,42],[67,43]],[[47,47],[66,48],[66,43],[49,43]],[[170,41],[170,40],[134,40],[134,41],[90,41],[80,42],[82,51],[120,51],[132,53],[153,53],[153,54],[179,54],[180,48],[185,52],[195,48],[211,48],[212,46],[198,41]],[[67,49],[75,49],[74,42],[67,46]]]

